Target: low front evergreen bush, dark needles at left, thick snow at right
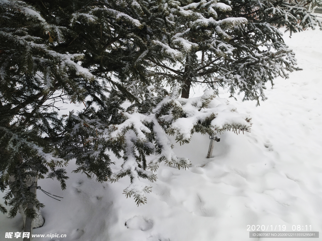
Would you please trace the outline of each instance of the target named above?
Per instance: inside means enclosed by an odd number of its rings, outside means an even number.
[[[74,123],[70,124],[72,128],[61,144],[65,150],[63,158],[76,159],[77,172],[89,176],[96,174],[99,181],[112,182],[128,175],[131,183],[124,193],[128,197],[133,195],[137,204],[146,202],[145,192],[151,190],[151,186],[140,178],[155,181],[153,172],[162,161],[179,169],[190,165],[187,158],[177,157],[172,151],[168,135],[174,135],[177,142],[188,143],[194,132],[249,131],[251,127],[249,116],[235,112],[233,106],[216,98],[211,90],[201,97],[189,99],[179,98],[178,87],[164,98],[153,90],[154,86],[148,86],[141,102],[115,115],[109,115],[110,112],[104,109],[95,112],[91,108],[79,116],[71,114],[69,121]],[[115,97],[110,96],[112,105],[118,102]],[[80,136],[86,138],[80,140]],[[112,162],[106,155],[107,150],[123,159],[117,173],[110,170]],[[123,156],[120,156],[121,150]],[[151,159],[151,155],[155,157]],[[151,160],[147,161],[147,158]]]

